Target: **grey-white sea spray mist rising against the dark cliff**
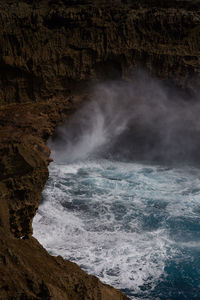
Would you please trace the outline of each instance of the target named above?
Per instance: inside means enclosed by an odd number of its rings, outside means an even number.
[[[129,81],[93,84],[89,98],[50,139],[56,162],[200,162],[198,97],[140,72]]]

